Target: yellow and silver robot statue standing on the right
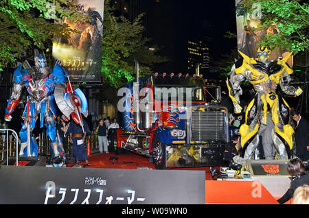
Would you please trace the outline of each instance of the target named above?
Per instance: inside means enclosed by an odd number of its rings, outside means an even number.
[[[293,69],[290,69],[285,58],[277,58],[271,62],[268,47],[258,48],[258,60],[249,58],[240,52],[242,58],[232,67],[227,78],[229,97],[233,101],[236,114],[242,112],[240,95],[241,82],[248,81],[253,85],[255,97],[250,101],[245,111],[245,123],[240,126],[240,152],[233,158],[234,162],[244,164],[253,158],[255,149],[259,145],[258,130],[260,125],[266,125],[267,112],[271,113],[274,129],[271,132],[275,146],[276,159],[290,159],[293,151],[293,133],[290,125],[290,107],[281,95],[276,93],[277,85],[287,95],[298,96],[303,92],[301,88],[290,86]]]

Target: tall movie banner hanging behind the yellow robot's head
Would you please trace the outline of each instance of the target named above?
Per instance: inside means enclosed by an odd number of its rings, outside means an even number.
[[[236,0],[236,24],[237,24],[237,45],[238,50],[250,58],[258,58],[258,43],[266,34],[277,34],[277,23],[271,23],[267,27],[262,26],[262,8],[260,3],[253,3],[252,11],[249,12]],[[285,57],[288,52],[285,49],[272,50],[271,60],[277,57]]]

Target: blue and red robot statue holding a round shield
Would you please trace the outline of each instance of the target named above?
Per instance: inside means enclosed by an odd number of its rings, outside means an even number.
[[[65,81],[67,77],[68,82]],[[87,117],[87,99],[82,91],[74,90],[69,75],[56,62],[54,69],[47,67],[43,53],[34,52],[34,66],[27,62],[19,64],[14,71],[12,95],[5,109],[5,121],[11,121],[12,112],[19,104],[23,88],[27,89],[27,102],[22,114],[21,149],[19,156],[38,156],[38,145],[32,136],[36,120],[40,119],[40,128],[46,127],[46,134],[50,140],[52,162],[54,167],[64,165],[65,154],[62,142],[56,130],[56,105],[65,115],[67,121],[71,115],[73,121],[82,125],[82,114]],[[56,101],[56,105],[55,102]]]

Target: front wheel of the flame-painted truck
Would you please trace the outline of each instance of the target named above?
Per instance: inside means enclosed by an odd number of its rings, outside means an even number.
[[[152,160],[156,169],[165,169],[165,146],[161,143],[160,138],[155,138],[152,144]]]

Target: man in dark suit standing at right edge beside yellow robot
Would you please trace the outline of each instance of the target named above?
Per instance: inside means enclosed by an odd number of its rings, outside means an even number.
[[[296,156],[302,161],[309,160],[309,123],[297,110],[291,115],[296,122]]]

